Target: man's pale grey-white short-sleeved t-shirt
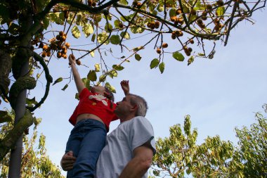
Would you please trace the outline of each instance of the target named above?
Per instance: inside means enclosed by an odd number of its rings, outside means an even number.
[[[96,164],[97,178],[117,178],[133,158],[133,150],[150,142],[155,154],[152,125],[145,117],[133,117],[122,122],[107,136],[107,142]],[[143,178],[148,177],[147,173]]]

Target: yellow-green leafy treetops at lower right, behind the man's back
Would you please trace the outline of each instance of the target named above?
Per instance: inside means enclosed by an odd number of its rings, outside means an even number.
[[[151,177],[266,177],[267,120],[256,113],[251,128],[235,129],[238,146],[207,137],[197,145],[197,130],[190,130],[190,116],[185,116],[184,129],[170,127],[169,138],[159,138],[153,158]]]

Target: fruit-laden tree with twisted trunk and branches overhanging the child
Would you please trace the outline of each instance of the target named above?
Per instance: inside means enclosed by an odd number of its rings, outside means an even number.
[[[100,63],[93,65],[84,83],[87,87],[105,83],[115,92],[106,82],[107,76],[117,77],[124,63],[133,56],[140,61],[141,51],[149,44],[153,44],[156,56],[150,68],[159,68],[160,72],[164,72],[164,57],[169,54],[177,61],[184,61],[184,55],[188,56],[188,65],[197,57],[213,58],[216,42],[221,39],[226,45],[230,31],[242,20],[252,22],[254,11],[265,4],[266,0],[252,3],[242,0],[1,1],[0,101],[9,102],[15,110],[15,125],[0,142],[0,160],[13,148],[10,177],[19,177],[22,132],[32,125],[32,112],[48,96],[53,82],[49,63],[53,58],[61,60],[67,58],[67,53],[79,52],[77,64],[81,65],[85,56],[93,57],[98,52]],[[79,39],[81,33],[90,37],[92,47],[77,48],[68,42],[70,34]],[[143,44],[131,46],[129,40],[136,37],[144,39],[140,40]],[[174,43],[168,45],[168,38],[174,39]],[[112,51],[116,46],[118,49]],[[117,52],[119,49],[121,53]],[[117,60],[108,61],[108,58]],[[37,73],[36,69],[43,72]],[[46,81],[46,91],[35,101],[34,97],[29,98],[27,90],[34,89],[41,79]],[[61,81],[63,77],[53,84]]]

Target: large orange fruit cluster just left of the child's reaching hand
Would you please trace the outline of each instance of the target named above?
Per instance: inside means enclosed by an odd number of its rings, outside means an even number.
[[[57,51],[58,58],[67,58],[67,49],[70,48],[70,44],[65,42],[67,34],[60,31],[56,38],[50,40],[49,45],[44,45],[40,43],[39,48],[43,49],[41,56],[45,58],[46,56],[51,56],[51,51]]]

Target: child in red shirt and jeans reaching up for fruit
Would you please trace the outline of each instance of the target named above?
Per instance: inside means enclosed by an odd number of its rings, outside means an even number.
[[[112,92],[105,87],[94,86],[89,91],[79,76],[72,54],[69,61],[79,92],[79,104],[69,120],[74,129],[70,133],[65,153],[73,151],[77,160],[73,169],[67,172],[67,177],[94,177],[96,161],[105,146],[110,122],[118,119],[113,113],[116,104],[113,103]],[[122,81],[121,86],[124,94],[129,94],[128,81]]]

